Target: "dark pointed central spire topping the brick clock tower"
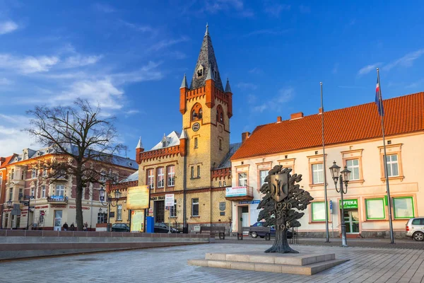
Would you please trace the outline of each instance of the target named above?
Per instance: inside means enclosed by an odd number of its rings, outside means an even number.
[[[199,57],[197,58],[196,67],[194,68],[190,89],[205,86],[205,81],[208,78],[213,78],[215,81],[215,87],[220,91],[224,91],[223,82],[220,79],[218,64],[216,63],[215,52],[213,51],[211,36],[209,35],[209,25],[206,24],[206,33],[203,42],[201,42]]]

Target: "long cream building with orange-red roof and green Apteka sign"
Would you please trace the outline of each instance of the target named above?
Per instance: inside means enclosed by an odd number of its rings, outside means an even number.
[[[329,209],[329,231],[341,233],[340,193],[329,167],[336,161],[352,172],[344,195],[344,219],[348,236],[389,237],[389,206],[396,236],[405,235],[407,219],[424,216],[424,93],[384,100],[387,172],[391,200],[384,178],[381,119],[375,103],[324,113],[325,156],[322,151],[321,113],[291,115],[290,120],[261,125],[232,156],[232,186],[252,187],[247,202],[233,202],[233,231],[257,221],[259,188],[273,166],[302,174],[300,186],[314,200],[300,219],[299,232],[325,236],[324,171]],[[324,158],[326,165],[324,166]],[[247,218],[247,220],[245,219]]]

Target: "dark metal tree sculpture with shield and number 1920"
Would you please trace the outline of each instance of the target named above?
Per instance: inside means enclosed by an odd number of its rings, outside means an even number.
[[[291,171],[281,165],[274,166],[261,187],[261,193],[265,196],[258,205],[258,209],[262,209],[258,221],[265,219],[264,226],[276,228],[273,246],[265,253],[299,253],[288,246],[287,231],[291,227],[300,227],[298,219],[305,213],[298,210],[306,209],[314,198],[295,184],[302,180],[302,175],[290,175]]]

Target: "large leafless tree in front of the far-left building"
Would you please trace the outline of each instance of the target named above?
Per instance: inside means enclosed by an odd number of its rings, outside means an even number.
[[[76,224],[83,229],[83,187],[90,183],[104,185],[107,180],[117,180],[112,171],[101,172],[104,163],[112,163],[114,154],[124,149],[116,142],[114,117],[102,117],[100,107],[92,108],[87,100],[77,99],[73,107],[36,106],[27,113],[33,118],[25,129],[35,140],[56,155],[40,163],[49,174],[50,183],[74,178],[76,185]]]

